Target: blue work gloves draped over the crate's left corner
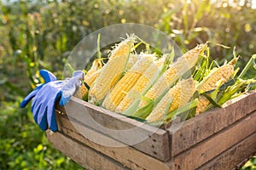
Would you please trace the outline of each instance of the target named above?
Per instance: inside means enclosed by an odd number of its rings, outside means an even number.
[[[75,71],[73,77],[65,81],[57,81],[49,71],[40,71],[45,83],[35,88],[21,102],[20,107],[25,107],[32,100],[31,111],[35,122],[42,130],[48,127],[53,132],[58,130],[55,118],[55,101],[61,97],[60,105],[66,105],[75,91],[81,86],[84,79],[83,71]]]

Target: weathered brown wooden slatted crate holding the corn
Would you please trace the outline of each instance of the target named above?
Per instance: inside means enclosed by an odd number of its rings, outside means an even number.
[[[87,169],[236,169],[256,152],[256,92],[195,116],[178,129],[149,126],[77,98],[65,110],[56,108],[59,132],[47,133],[48,139]],[[110,134],[105,127],[136,130]],[[131,144],[138,137],[146,139]]]

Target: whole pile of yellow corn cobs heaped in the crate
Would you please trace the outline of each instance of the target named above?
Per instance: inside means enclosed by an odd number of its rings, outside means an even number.
[[[207,43],[192,48],[171,63],[168,54],[136,54],[136,42],[134,35],[120,42],[103,66],[96,59],[84,78],[86,87],[82,86],[76,95],[88,95],[90,103],[109,111],[137,116],[146,122],[165,122],[166,116],[170,118],[179,108],[186,111],[187,105],[193,101],[196,101],[193,105],[195,115],[206,111],[212,102],[218,103],[218,88],[236,72],[237,58],[219,68],[196,67],[201,59],[208,59],[208,55],[204,55],[208,51]],[[199,71],[200,79],[192,74],[198,68],[208,69]],[[188,72],[193,76],[184,78]],[[206,72],[209,73],[206,75]]]

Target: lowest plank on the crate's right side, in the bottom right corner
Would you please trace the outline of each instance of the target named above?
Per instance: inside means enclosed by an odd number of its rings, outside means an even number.
[[[205,165],[199,167],[198,170],[240,169],[241,161],[247,160],[254,153],[256,153],[256,133],[253,133],[239,144],[234,145],[229,150],[208,161]]]

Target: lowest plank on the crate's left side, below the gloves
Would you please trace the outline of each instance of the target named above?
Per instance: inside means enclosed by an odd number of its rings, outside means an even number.
[[[84,144],[78,143],[73,139],[67,138],[67,136],[61,133],[54,133],[50,135],[47,133],[49,142],[52,143],[57,150],[78,162],[82,167],[88,170],[122,170],[126,167],[119,164],[119,162],[110,159],[108,156],[104,156],[96,150],[92,150]]]

